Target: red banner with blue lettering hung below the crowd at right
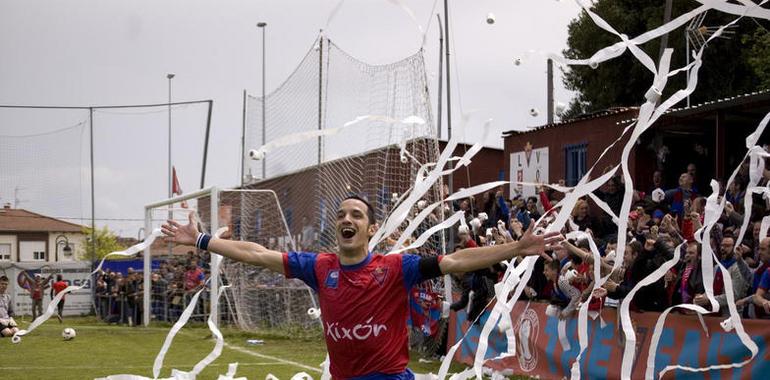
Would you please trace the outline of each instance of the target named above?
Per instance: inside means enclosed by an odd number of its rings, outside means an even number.
[[[516,334],[516,356],[487,361],[485,366],[496,370],[511,370],[515,374],[562,379],[570,377],[570,369],[579,351],[577,318],[567,319],[559,334],[559,319],[546,316],[548,305],[544,303],[517,302],[511,312]],[[480,323],[473,325],[457,350],[455,360],[473,365],[479,333],[489,312]],[[637,335],[636,361],[632,377],[643,379],[647,367],[647,353],[659,313],[631,313]],[[449,345],[468,331],[465,312],[452,313],[450,317]],[[696,315],[670,314],[661,334],[655,357],[655,376],[667,365],[705,367],[714,364],[741,362],[751,353],[743,346],[735,332],[725,332],[719,323],[725,318],[704,317],[708,335]],[[738,369],[709,372],[669,371],[665,379],[770,379],[770,321],[744,319],[743,326],[759,347],[754,360]],[[623,332],[618,329],[617,311],[605,308],[601,318],[588,323],[588,347],[581,357],[581,375],[584,379],[619,379],[623,360]],[[503,332],[493,329],[489,336],[486,359],[499,356],[507,350]]]

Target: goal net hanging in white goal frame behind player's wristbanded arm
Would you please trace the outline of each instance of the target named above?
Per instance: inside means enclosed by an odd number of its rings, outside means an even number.
[[[146,228],[158,228],[167,219],[185,224],[191,212],[195,213],[201,231],[219,234],[223,239],[255,242],[280,252],[296,250],[295,237],[286,226],[278,197],[270,190],[211,188],[161,201],[146,207]],[[293,334],[308,331],[314,324],[318,326],[317,320],[308,314],[316,302],[312,291],[299,280],[190,247],[154,244],[151,257],[163,258],[152,273],[167,276],[168,270],[162,269],[165,263],[185,269],[183,274],[177,269],[175,275],[168,275],[171,282],[165,287],[165,294],[164,287],[155,286],[156,279],[145,285],[154,289],[149,300],[145,300],[146,320],[174,320],[189,306],[193,292],[204,286],[199,305],[193,309],[193,320],[217,313],[220,321],[237,324],[244,330],[283,329]],[[195,278],[189,276],[198,269],[208,283],[192,286],[190,282],[195,282]],[[216,304],[211,295],[223,285],[230,287]]]

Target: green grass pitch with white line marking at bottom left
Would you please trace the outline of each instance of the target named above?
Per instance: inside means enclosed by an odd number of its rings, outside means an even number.
[[[21,323],[26,327],[28,323]],[[77,331],[77,338],[64,341],[64,327]],[[134,374],[152,378],[155,356],[163,345],[170,326],[109,326],[93,318],[70,318],[64,324],[51,319],[21,343],[0,340],[0,379],[93,379],[116,374]],[[264,379],[272,373],[289,379],[298,372],[320,378],[320,363],[326,356],[321,337],[289,339],[280,334],[245,333],[223,329],[225,349],[199,379],[216,379],[227,372],[229,363],[238,362],[237,376]],[[246,344],[248,339],[262,339],[263,345]],[[214,348],[214,339],[203,324],[186,327],[177,334],[166,355],[161,377],[171,369],[189,371]],[[437,373],[438,361],[420,363],[419,354],[411,354],[409,368],[415,373]],[[453,364],[450,372],[465,366]]]

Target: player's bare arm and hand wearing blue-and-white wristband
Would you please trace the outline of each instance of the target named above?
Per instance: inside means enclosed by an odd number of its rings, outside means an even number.
[[[190,212],[189,220],[190,222],[186,225],[169,220],[161,226],[161,231],[166,235],[165,240],[177,244],[197,246],[235,261],[259,265],[273,272],[284,274],[283,254],[281,252],[269,250],[257,243],[247,241],[215,239],[208,235],[199,236],[200,232],[193,220],[192,212]]]

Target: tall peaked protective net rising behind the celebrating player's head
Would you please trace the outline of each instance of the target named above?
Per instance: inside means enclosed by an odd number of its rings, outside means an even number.
[[[265,98],[247,97],[244,188],[275,192],[298,249],[335,252],[336,209],[342,199],[353,193],[366,198],[381,222],[410,190],[420,168],[437,160],[427,88],[422,51],[373,65],[320,37],[276,90]],[[423,122],[400,122],[408,118]],[[334,133],[319,137],[318,131]],[[250,149],[286,136],[294,138],[292,144],[266,151],[259,160],[249,157]],[[438,182],[423,199],[437,201],[441,187]],[[411,215],[417,212],[415,207]],[[413,237],[442,218],[437,210]],[[394,241],[383,242],[375,251],[387,253]],[[442,252],[437,234],[413,253]],[[426,284],[415,297],[428,297],[410,304],[428,307],[425,299],[443,294],[443,288],[440,280]],[[421,310],[419,315],[434,314]],[[420,341],[440,336],[437,328],[415,326],[415,331]]]

